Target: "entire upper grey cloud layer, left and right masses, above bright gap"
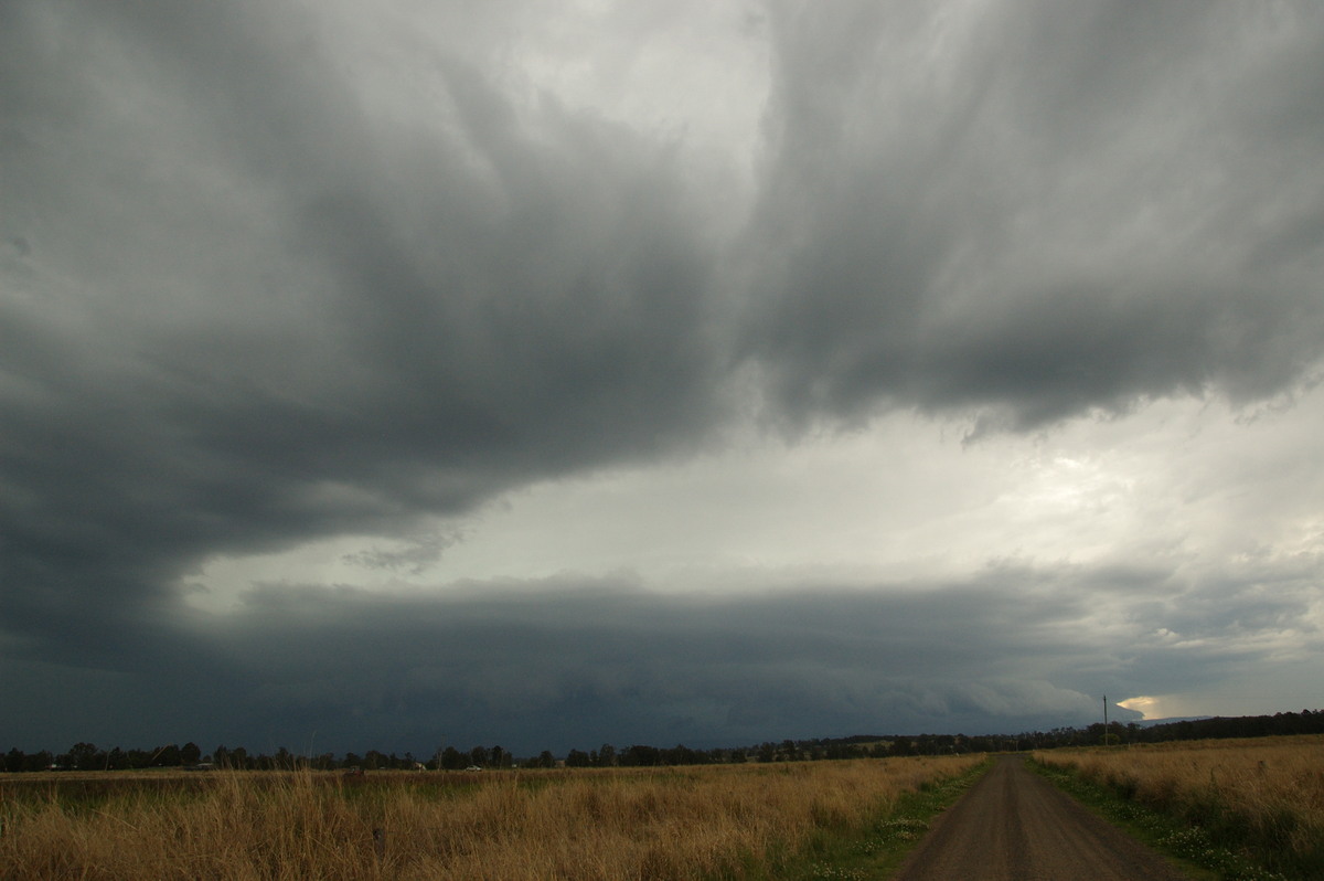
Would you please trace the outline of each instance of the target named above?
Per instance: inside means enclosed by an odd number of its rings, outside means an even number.
[[[9,644],[107,664],[208,555],[737,419],[1026,429],[1319,358],[1319,7],[756,12],[747,188],[514,87],[518,4],[436,41],[335,4],[0,5]]]

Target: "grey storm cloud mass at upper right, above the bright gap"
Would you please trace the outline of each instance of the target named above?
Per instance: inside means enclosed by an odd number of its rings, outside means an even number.
[[[1320,355],[1324,16],[775,4],[748,344],[793,413],[1033,425]]]

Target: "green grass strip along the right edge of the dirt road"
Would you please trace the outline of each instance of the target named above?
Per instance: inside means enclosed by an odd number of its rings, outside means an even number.
[[[1245,847],[1225,847],[1207,829],[1149,808],[1080,776],[1075,770],[1030,760],[1027,767],[1113,825],[1180,862],[1197,878],[1221,881],[1311,881],[1313,872],[1283,873]]]

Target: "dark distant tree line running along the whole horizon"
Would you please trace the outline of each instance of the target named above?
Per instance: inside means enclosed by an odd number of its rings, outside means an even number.
[[[1255,738],[1284,734],[1324,734],[1324,710],[1275,713],[1274,715],[1246,715],[1209,719],[1185,719],[1164,725],[1140,726],[1135,722],[1113,722],[1104,729],[1102,722],[1087,727],[1059,727],[1051,731],[1021,734],[919,734],[919,735],[854,735],[809,741],[764,742],[756,746],[715,750],[691,750],[683,745],[670,749],[634,745],[617,750],[604,743],[588,752],[571,750],[565,767],[653,767],[673,764],[733,764],[741,762],[820,762],[834,759],[880,759],[903,755],[951,755],[961,752],[1001,752],[1018,750],[1051,750],[1058,747],[1098,746],[1100,743],[1158,743],[1162,741],[1204,741],[1218,738]],[[425,760],[412,752],[402,756],[368,750],[363,755],[346,752],[336,758],[331,752],[295,755],[281,747],[274,755],[250,754],[242,746],[217,746],[209,754],[193,742],[177,746],[168,743],[154,750],[98,749],[79,742],[66,752],[48,750],[24,752],[12,749],[0,759],[0,770],[21,771],[122,771],[144,768],[220,767],[241,771],[274,771],[312,768],[334,771],[340,768],[379,770],[444,770],[458,771],[469,767],[508,768],[560,764],[549,750],[536,756],[516,758],[500,746],[475,746],[467,752],[453,746],[438,749]]]

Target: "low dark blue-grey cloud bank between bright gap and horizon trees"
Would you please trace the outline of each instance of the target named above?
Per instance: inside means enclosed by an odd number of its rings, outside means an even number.
[[[1178,692],[1263,662],[1272,649],[1258,636],[1227,637],[1251,609],[1290,628],[1304,608],[1231,587],[1189,600],[1158,572],[1022,567],[960,584],[806,583],[722,599],[568,576],[474,583],[450,597],[270,586],[229,619],[152,637],[132,669],[95,678],[89,700],[106,705],[99,730],[113,737],[150,738],[184,711],[232,742],[315,735],[338,750],[430,749],[438,737],[564,751],[602,739],[1014,733],[1096,721],[1102,681]],[[7,688],[58,681],[77,694],[71,678],[33,673]],[[117,706],[143,684],[180,705]]]

